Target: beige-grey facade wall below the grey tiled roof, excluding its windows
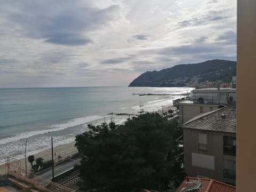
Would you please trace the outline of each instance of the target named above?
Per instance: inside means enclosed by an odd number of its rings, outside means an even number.
[[[207,151],[198,150],[199,133],[207,134]],[[236,159],[235,156],[223,154],[224,135],[235,137],[235,133],[183,129],[184,168],[188,176],[196,177],[197,175],[201,175],[235,184],[234,180],[223,178],[224,160],[235,161]],[[192,153],[214,156],[214,170],[192,166]]]

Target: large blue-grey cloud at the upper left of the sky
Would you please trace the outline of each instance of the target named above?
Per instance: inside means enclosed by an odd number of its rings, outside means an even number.
[[[46,42],[62,45],[85,45],[92,42],[86,33],[99,29],[113,19],[119,9],[112,5],[96,9],[82,5],[81,1],[22,1],[13,7],[9,18],[19,25],[30,38],[42,38]],[[5,9],[3,11],[9,11]]]

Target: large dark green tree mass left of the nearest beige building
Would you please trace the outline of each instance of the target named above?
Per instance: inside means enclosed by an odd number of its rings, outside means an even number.
[[[88,132],[76,136],[82,156],[81,188],[105,192],[167,188],[174,167],[168,157],[175,145],[166,122],[161,115],[148,113],[125,125],[111,124],[111,129],[106,123],[89,125]]]

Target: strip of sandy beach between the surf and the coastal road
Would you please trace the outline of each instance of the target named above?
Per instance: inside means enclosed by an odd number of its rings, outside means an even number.
[[[65,145],[53,146],[53,158],[55,162],[61,161],[63,158],[68,158],[71,155],[77,153],[77,149],[75,147],[75,141],[71,143],[67,143]],[[37,154],[34,154],[35,159],[42,157],[44,161],[49,161],[52,159],[52,149],[46,149]],[[27,156],[28,158],[28,156]],[[25,169],[25,158],[20,159],[21,169]],[[34,162],[35,163],[35,162]],[[31,164],[27,161],[27,170],[30,170]]]

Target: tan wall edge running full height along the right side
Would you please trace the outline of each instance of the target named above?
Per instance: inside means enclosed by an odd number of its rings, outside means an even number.
[[[237,180],[238,192],[256,191],[256,1],[237,1]]]

